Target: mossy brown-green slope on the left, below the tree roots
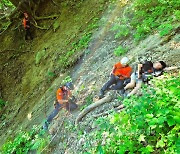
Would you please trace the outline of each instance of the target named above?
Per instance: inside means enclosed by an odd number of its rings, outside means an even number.
[[[24,41],[21,21],[1,34],[1,98],[8,101],[1,113],[1,144],[9,134],[13,136],[16,129],[28,125],[29,121],[26,119],[28,113],[32,112],[32,108],[49,89],[51,82],[68,73],[65,71],[67,65],[73,65],[82,55],[79,51],[90,40],[92,31],[97,28],[96,21],[108,3],[109,1],[106,0],[98,2],[70,0],[59,2],[56,6],[52,1],[48,1],[40,8],[43,10],[40,15],[44,16],[60,10],[59,18],[41,20],[40,26],[49,27],[47,30],[32,26],[33,41]],[[67,65],[62,63],[63,58],[66,58],[67,53],[74,48],[73,44],[78,44],[79,41],[81,44],[75,46],[76,53],[68,57],[71,59],[66,59],[69,63]],[[62,79],[63,77],[60,77],[59,84]],[[8,131],[4,133],[7,128]]]

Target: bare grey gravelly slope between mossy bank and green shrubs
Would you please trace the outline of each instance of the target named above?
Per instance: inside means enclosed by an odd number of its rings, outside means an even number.
[[[82,60],[75,66],[71,72],[71,77],[76,85],[75,95],[78,98],[78,105],[80,108],[86,103],[87,98],[91,99],[90,103],[96,101],[96,96],[99,93],[102,85],[108,80],[109,74],[113,65],[118,62],[123,56],[128,56],[131,60],[131,66],[138,63],[138,58],[151,59],[152,61],[164,60],[168,66],[180,65],[180,35],[176,33],[169,41],[166,41],[166,37],[162,38],[158,33],[150,35],[138,45],[134,43],[131,38],[118,40],[114,39],[114,33],[110,31],[110,28],[115,24],[115,19],[120,16],[117,11],[121,7],[116,5],[109,9],[102,18],[104,24],[99,28],[98,32],[93,35],[93,40],[90,42],[88,49],[85,50],[85,54]],[[118,13],[117,13],[118,12]],[[127,54],[116,57],[113,51],[119,46],[128,47]],[[178,72],[178,70],[176,70]],[[175,72],[176,72],[175,71]],[[96,132],[94,128],[93,115],[102,113],[106,110],[112,109],[114,105],[120,105],[118,99],[108,102],[103,106],[90,112],[80,122],[79,130],[74,129],[75,119],[80,112],[75,111],[72,115],[65,115],[64,112],[60,113],[59,118],[54,122],[52,126],[52,132],[54,129],[59,133],[49,146],[51,153],[83,153],[92,148],[89,140],[86,136],[91,132]],[[51,108],[52,109],[52,108]],[[78,113],[77,113],[78,112]],[[64,117],[65,120],[62,118]],[[64,125],[61,124],[64,121]],[[58,128],[60,124],[60,128]],[[90,145],[88,145],[90,144]],[[54,149],[55,148],[55,149]]]

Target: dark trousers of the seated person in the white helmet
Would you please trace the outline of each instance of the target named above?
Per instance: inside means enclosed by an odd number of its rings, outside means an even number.
[[[106,91],[111,86],[111,90],[121,90],[124,87],[124,80],[120,80],[115,75],[111,74],[110,80],[104,84],[102,91]]]

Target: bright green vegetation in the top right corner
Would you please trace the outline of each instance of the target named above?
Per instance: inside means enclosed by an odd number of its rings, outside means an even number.
[[[179,6],[177,0],[135,0],[125,12],[127,17],[119,18],[112,28],[115,38],[123,38],[130,32],[135,41],[155,31],[159,31],[160,36],[168,35],[180,21]]]

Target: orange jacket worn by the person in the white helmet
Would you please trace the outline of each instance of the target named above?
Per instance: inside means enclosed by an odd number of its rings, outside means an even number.
[[[113,68],[114,69],[113,69],[112,73],[115,76],[119,76],[119,78],[121,80],[124,80],[126,78],[130,78],[131,72],[132,72],[132,68],[130,66],[123,67],[123,65],[119,62],[119,63],[115,64]]]

